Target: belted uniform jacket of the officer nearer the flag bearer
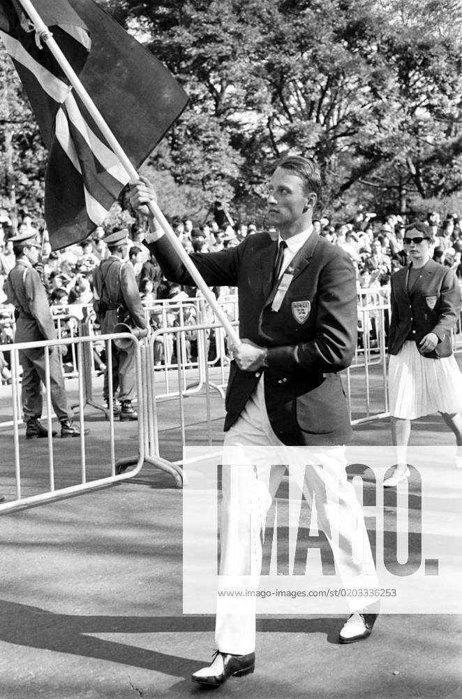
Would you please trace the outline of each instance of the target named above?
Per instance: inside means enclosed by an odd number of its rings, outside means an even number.
[[[124,305],[131,315],[133,324],[146,328],[144,311],[131,262],[111,255],[96,268],[93,278],[95,310],[98,314],[99,302],[104,301],[107,311],[100,315],[101,333],[112,333],[119,322],[117,308]]]

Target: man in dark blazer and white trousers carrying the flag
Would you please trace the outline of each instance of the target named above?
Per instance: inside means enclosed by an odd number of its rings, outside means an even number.
[[[224,462],[220,575],[248,576],[258,588],[261,522],[285,473],[285,466],[271,472],[265,449],[277,456],[284,445],[306,447],[298,450],[300,461],[293,466],[303,468],[304,485],[313,493],[343,587],[376,592],[364,517],[345,473],[344,445],[352,430],[339,372],[350,366],[355,352],[355,270],[343,250],[313,229],[321,192],[314,161],[286,157],[268,191],[268,219],[278,230],[277,242],[257,233],[237,247],[190,256],[209,286],[238,289],[241,340],[232,344],[224,453],[263,447],[255,465]],[[141,178],[131,194],[133,208],[146,213],[154,199],[154,188]],[[191,272],[174,254],[170,238],[151,216],[149,225],[146,245],[167,280],[191,285]],[[363,555],[357,560],[351,552],[359,550]],[[379,598],[367,598],[367,606],[362,600],[361,595],[348,599],[351,613],[340,631],[341,643],[371,635],[378,615],[373,602]],[[192,677],[209,687],[255,669],[255,607],[235,612],[230,600],[218,596],[216,610],[216,654]]]

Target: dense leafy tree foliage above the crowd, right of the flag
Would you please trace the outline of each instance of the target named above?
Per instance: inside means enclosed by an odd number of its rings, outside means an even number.
[[[183,210],[180,199],[197,212],[225,199],[250,215],[287,152],[318,160],[326,209],[338,216],[359,203],[385,213],[417,200],[454,201],[461,188],[455,0],[100,4],[191,98],[147,164],[161,182],[168,173],[167,214]],[[43,166],[40,154],[31,161],[29,168]]]

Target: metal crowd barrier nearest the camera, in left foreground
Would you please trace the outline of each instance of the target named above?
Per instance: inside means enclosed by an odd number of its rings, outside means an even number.
[[[80,338],[66,338],[66,339],[61,339],[61,340],[47,340],[47,341],[42,341],[42,342],[36,342],[36,343],[15,343],[13,345],[8,345],[8,350],[11,352],[11,367],[12,367],[12,373],[13,373],[13,381],[11,383],[11,391],[12,391],[12,405],[13,405],[13,421],[12,421],[12,426],[13,426],[13,466],[14,466],[14,474],[15,474],[15,494],[16,497],[14,500],[7,501],[5,503],[0,503],[0,513],[1,512],[9,512],[11,510],[16,510],[21,507],[27,507],[30,505],[35,505],[36,503],[44,503],[44,502],[50,502],[50,500],[54,500],[57,498],[64,498],[66,496],[71,496],[74,495],[75,493],[82,493],[82,492],[87,492],[90,490],[94,490],[96,488],[100,488],[103,486],[107,486],[110,484],[117,483],[122,480],[128,480],[130,478],[133,478],[137,473],[139,473],[140,469],[142,468],[142,464],[144,462],[144,435],[147,432],[147,405],[148,405],[148,396],[147,396],[147,362],[145,359],[145,350],[146,347],[141,345],[135,338],[129,333],[120,333],[117,336],[114,335],[104,335],[100,336],[100,340],[102,341],[108,341],[108,346],[110,347],[110,342],[109,340],[113,340],[114,338],[126,338],[130,342],[133,343],[133,351],[135,352],[135,360],[136,360],[136,385],[137,385],[137,395],[139,397],[140,405],[142,406],[142,410],[140,410],[140,415],[138,417],[137,421],[137,430],[138,430],[138,449],[137,449],[137,454],[136,456],[133,456],[133,459],[131,459],[131,463],[135,466],[133,470],[131,470],[129,473],[124,473],[124,469],[121,468],[121,463],[124,463],[126,459],[121,460],[120,462],[115,460],[115,442],[114,442],[114,415],[112,411],[110,412],[109,419],[110,419],[110,424],[109,424],[109,445],[108,445],[108,454],[109,454],[109,475],[105,477],[100,477],[97,478],[96,480],[87,480],[87,459],[86,459],[86,452],[85,452],[85,445],[86,445],[86,440],[87,437],[84,435],[84,405],[85,405],[85,387],[84,387],[84,372],[80,371],[78,375],[78,394],[79,394],[79,403],[78,403],[78,416],[80,419],[80,426],[82,427],[80,438],[73,438],[72,446],[75,447],[76,442],[80,446],[80,455],[79,455],[79,460],[80,460],[80,473],[77,475],[77,480],[80,482],[77,482],[77,484],[74,484],[69,487],[61,487],[57,488],[56,487],[56,470],[55,470],[55,457],[54,457],[54,445],[57,440],[53,440],[52,438],[52,403],[51,403],[51,394],[50,394],[50,356],[49,356],[49,350],[47,349],[48,347],[54,347],[57,345],[58,347],[61,347],[63,345],[68,345],[71,343],[72,345],[75,346],[76,353],[77,353],[77,363],[78,366],[83,367],[84,366],[84,348],[85,347],[90,347],[91,343],[94,342],[94,337],[91,336],[84,336]],[[47,426],[47,431],[48,431],[48,437],[43,438],[40,440],[40,442],[43,444],[44,442],[47,443],[47,473],[48,473],[48,490],[37,493],[35,495],[31,496],[24,496],[23,495],[23,482],[22,482],[22,463],[21,463],[21,444],[20,444],[20,435],[19,435],[19,426],[22,421],[22,415],[21,415],[21,401],[20,401],[20,385],[19,385],[19,355],[18,352],[21,349],[31,349],[33,347],[40,347],[45,350],[45,393],[46,393],[46,412],[47,412],[47,417],[46,417],[46,426]],[[54,349],[54,351],[59,351],[59,349]],[[112,366],[112,356],[111,352],[109,351],[109,356],[108,356],[108,366],[111,368]],[[109,373],[110,377],[110,382],[109,382],[109,399],[112,402],[112,372],[110,371]],[[44,421],[45,422],[45,421]],[[3,424],[5,426],[5,424]],[[61,442],[61,440],[59,440]],[[31,442],[31,446],[34,445],[35,442]],[[73,452],[74,453],[74,452]],[[66,459],[68,458],[69,454],[66,456]],[[5,473],[6,470],[8,470],[8,455],[6,454],[6,450],[3,452],[3,473]],[[30,456],[29,456],[30,459]],[[36,456],[35,456],[36,459]],[[34,461],[34,465],[36,465],[36,461]]]

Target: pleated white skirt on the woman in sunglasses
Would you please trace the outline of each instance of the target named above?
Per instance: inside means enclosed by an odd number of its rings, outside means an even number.
[[[454,354],[432,359],[406,340],[388,365],[390,413],[413,420],[435,412],[462,412],[462,374]]]

